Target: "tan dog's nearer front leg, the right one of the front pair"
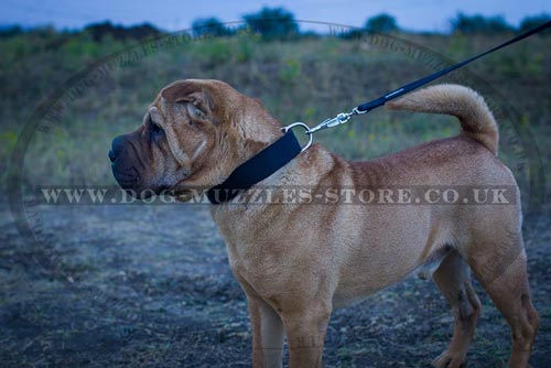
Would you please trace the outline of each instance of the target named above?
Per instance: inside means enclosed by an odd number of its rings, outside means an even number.
[[[331,309],[310,306],[283,314],[291,368],[321,368]]]

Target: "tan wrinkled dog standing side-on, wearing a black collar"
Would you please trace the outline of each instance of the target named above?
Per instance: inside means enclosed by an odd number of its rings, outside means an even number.
[[[253,366],[281,367],[287,334],[292,368],[321,367],[335,307],[358,301],[431,261],[455,331],[436,367],[460,367],[480,313],[473,270],[512,332],[510,367],[528,367],[539,317],[528,289],[521,212],[511,172],[497,159],[496,122],[473,90],[439,85],[388,104],[458,117],[458,137],[368,162],[347,162],[314,144],[259,185],[323,188],[506,186],[509,205],[212,205],[231,270],[247,293]],[[281,137],[255,99],[223,82],[179,80],[143,123],[117,138],[114,174],[125,188],[172,190],[190,198],[213,187]],[[276,190],[274,196],[282,193]]]

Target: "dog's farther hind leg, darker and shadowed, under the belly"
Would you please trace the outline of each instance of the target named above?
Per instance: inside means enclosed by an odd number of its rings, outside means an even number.
[[[455,323],[449,348],[432,364],[439,368],[460,367],[465,361],[465,355],[473,338],[480,314],[480,302],[471,283],[468,264],[457,250],[452,250],[445,256],[433,273],[433,279],[450,303]]]

